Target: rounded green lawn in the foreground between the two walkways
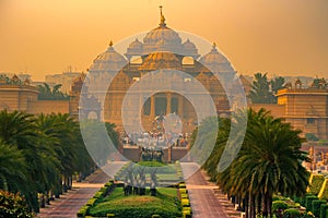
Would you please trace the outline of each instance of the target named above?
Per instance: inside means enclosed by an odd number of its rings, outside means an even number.
[[[110,195],[99,199],[89,214],[97,217],[115,214],[118,218],[150,218],[152,215],[173,218],[181,217],[181,207],[174,187],[159,187],[156,196],[150,196],[149,190],[144,196],[124,196],[122,187],[116,187]]]

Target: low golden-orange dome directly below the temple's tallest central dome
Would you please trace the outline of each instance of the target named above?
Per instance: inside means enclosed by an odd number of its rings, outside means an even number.
[[[172,52],[153,52],[144,59],[140,69],[153,71],[159,69],[178,69],[180,65],[179,59]]]

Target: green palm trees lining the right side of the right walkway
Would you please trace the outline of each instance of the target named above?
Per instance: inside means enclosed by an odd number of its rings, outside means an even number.
[[[308,161],[308,158],[301,150],[301,131],[263,109],[257,112],[247,110],[247,118],[242,148],[222,172],[219,172],[218,165],[230,137],[231,122],[238,126],[238,123],[245,123],[245,117],[219,120],[216,144],[203,168],[221,190],[245,209],[247,218],[258,215],[269,217],[272,216],[273,194],[305,194],[309,173],[302,162]]]

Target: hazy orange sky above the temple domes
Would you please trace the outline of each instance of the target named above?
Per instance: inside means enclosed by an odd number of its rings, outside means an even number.
[[[156,27],[160,4],[239,73],[328,77],[328,0],[0,0],[0,72],[85,71],[110,39]]]

